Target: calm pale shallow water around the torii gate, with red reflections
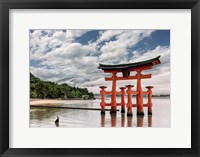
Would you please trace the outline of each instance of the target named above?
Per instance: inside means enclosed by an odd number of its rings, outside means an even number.
[[[108,100],[107,100],[108,101]],[[120,102],[120,99],[118,99]],[[120,111],[116,115],[100,114],[100,110],[79,110],[59,108],[30,108],[30,127],[33,128],[98,128],[98,127],[170,127],[170,98],[153,98],[153,115],[147,114],[144,107],[144,116],[136,116],[136,108],[133,108],[133,116],[127,117]],[[144,98],[144,103],[147,99]],[[100,99],[84,100],[77,104],[64,104],[70,107],[100,108]],[[107,107],[108,109],[110,107]],[[118,107],[120,109],[120,107]],[[59,124],[55,124],[59,116]]]

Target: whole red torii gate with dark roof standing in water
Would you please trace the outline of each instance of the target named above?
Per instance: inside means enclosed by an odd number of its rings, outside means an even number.
[[[121,92],[116,91],[116,82],[117,80],[132,80],[136,79],[137,80],[137,89],[136,91],[132,91],[131,88],[133,86],[127,86],[128,90],[128,116],[132,116],[132,106],[137,107],[137,115],[144,115],[143,111],[143,106],[148,106],[148,114],[152,114],[152,102],[151,102],[151,96],[152,96],[152,91],[151,89],[153,88],[152,86],[147,86],[147,91],[143,92],[142,91],[142,85],[141,85],[141,80],[142,79],[148,79],[151,78],[151,74],[146,74],[143,75],[142,71],[143,70],[149,70],[152,69],[152,67],[156,64],[160,64],[159,60],[160,56],[142,61],[142,62],[136,62],[136,63],[129,63],[129,64],[118,64],[118,65],[105,65],[105,64],[99,64],[99,69],[102,69],[105,73],[111,73],[112,77],[105,77],[105,81],[112,81],[112,91],[107,92],[105,91],[105,86],[101,86],[101,96],[102,96],[102,102],[101,102],[101,113],[105,113],[105,106],[111,106],[111,111],[110,113],[116,113],[117,106],[121,106],[122,110],[121,112],[125,112],[125,102],[124,102],[124,96],[125,96],[125,88],[121,87]],[[134,76],[130,76],[131,71],[136,71],[137,74]],[[123,76],[119,77],[117,76],[117,73],[122,72]],[[104,100],[104,95],[110,94],[111,95],[111,103],[105,103]],[[120,94],[121,95],[121,103],[116,102],[116,95]],[[132,104],[132,94],[136,95],[136,105]],[[143,94],[148,95],[148,104],[144,105],[143,104]]]

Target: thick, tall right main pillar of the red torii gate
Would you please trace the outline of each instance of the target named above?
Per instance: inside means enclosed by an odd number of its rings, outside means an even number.
[[[137,103],[137,115],[144,115],[143,111],[143,92],[141,85],[141,70],[137,71],[137,95],[136,95],[136,103]]]

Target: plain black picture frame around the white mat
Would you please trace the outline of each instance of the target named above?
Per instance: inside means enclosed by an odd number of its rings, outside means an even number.
[[[191,148],[9,148],[9,9],[191,9]],[[1,0],[0,1],[1,156],[193,156],[200,155],[199,0]],[[172,139],[172,142],[175,139]]]

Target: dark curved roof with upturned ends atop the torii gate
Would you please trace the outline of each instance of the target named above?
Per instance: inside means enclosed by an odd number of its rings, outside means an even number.
[[[157,56],[155,58],[141,61],[141,62],[135,62],[135,63],[128,63],[128,64],[115,64],[115,65],[108,65],[108,64],[100,64],[99,63],[99,69],[102,70],[125,70],[129,68],[140,68],[144,66],[153,66],[155,64],[160,64],[159,60],[160,56]]]

